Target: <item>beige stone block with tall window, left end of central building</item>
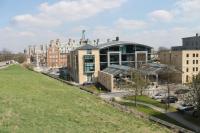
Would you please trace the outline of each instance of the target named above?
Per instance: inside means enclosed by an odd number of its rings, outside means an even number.
[[[100,70],[99,49],[85,44],[71,51],[67,68],[72,80],[79,84],[96,82]]]

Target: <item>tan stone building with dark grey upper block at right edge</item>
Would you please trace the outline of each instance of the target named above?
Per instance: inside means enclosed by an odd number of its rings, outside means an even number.
[[[189,83],[193,76],[200,72],[200,37],[182,39],[183,46],[172,47],[168,51],[159,52],[159,60],[163,64],[175,66],[182,74],[175,74],[174,79],[180,83]]]

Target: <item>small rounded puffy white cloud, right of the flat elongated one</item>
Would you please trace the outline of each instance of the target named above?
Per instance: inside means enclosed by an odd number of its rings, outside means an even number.
[[[149,17],[153,21],[169,22],[173,19],[173,14],[166,10],[156,10],[149,13]]]

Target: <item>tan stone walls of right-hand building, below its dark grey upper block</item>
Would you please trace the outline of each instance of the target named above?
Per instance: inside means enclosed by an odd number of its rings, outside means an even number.
[[[195,55],[195,57],[193,57],[193,54]],[[187,57],[187,55],[189,55],[189,57]],[[183,72],[182,74],[174,74],[173,77],[174,82],[179,82],[183,84],[191,82],[193,75],[197,75],[200,72],[199,57],[200,50],[181,50],[171,52],[164,51],[159,53],[160,62],[162,64],[173,65]],[[187,61],[189,61],[188,64]],[[186,79],[187,76],[188,81]]]

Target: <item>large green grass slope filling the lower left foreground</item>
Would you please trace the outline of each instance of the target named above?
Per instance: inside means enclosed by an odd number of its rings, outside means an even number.
[[[0,132],[170,132],[75,87],[10,66],[0,70]]]

